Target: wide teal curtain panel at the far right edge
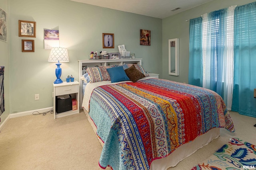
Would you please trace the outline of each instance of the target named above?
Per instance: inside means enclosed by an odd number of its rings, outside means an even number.
[[[238,6],[234,21],[232,110],[256,117],[256,2]]]

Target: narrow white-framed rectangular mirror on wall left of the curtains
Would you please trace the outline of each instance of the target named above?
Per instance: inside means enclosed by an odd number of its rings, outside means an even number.
[[[179,39],[169,39],[169,74],[173,76],[179,75]]]

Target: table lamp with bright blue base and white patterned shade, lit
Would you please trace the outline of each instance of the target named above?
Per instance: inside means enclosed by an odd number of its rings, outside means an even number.
[[[62,72],[60,68],[60,65],[61,65],[60,62],[69,62],[68,50],[62,47],[52,47],[48,61],[58,62],[56,63],[57,68],[55,70],[57,79],[53,83],[54,84],[63,83],[63,81],[60,79],[61,72]]]

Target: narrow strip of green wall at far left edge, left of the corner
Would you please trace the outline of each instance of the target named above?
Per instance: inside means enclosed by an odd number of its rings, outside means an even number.
[[[7,29],[9,30],[9,1],[0,0],[0,7],[4,10],[6,15]],[[10,33],[7,31],[7,42],[0,41],[0,66],[4,66],[4,106],[5,111],[1,115],[1,122],[8,117],[10,113],[10,61],[9,61],[9,44],[10,44]]]

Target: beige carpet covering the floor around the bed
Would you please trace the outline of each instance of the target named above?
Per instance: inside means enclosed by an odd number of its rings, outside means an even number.
[[[256,118],[236,112],[230,115],[235,133],[222,129],[218,139],[168,170],[189,170],[232,137],[255,143]],[[82,111],[55,120],[50,113],[17,117],[0,132],[0,170],[100,170],[101,149]]]

